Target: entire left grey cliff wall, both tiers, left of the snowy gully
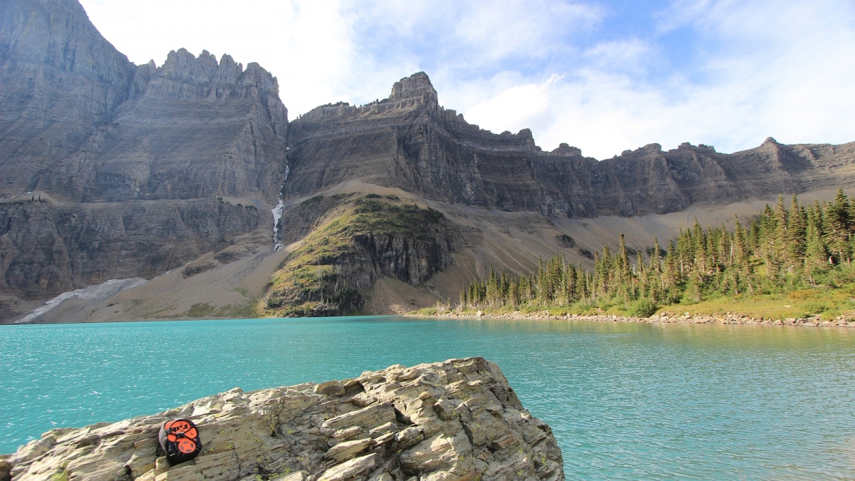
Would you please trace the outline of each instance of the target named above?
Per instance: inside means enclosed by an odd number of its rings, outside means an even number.
[[[250,233],[269,232],[288,119],[257,63],[180,49],[138,67],[77,0],[9,0],[0,99],[0,199],[15,199],[0,205],[3,294],[50,297],[240,239],[271,244]]]

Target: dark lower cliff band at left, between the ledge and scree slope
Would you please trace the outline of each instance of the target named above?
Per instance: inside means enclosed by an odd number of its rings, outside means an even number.
[[[0,204],[0,291],[32,299],[155,277],[259,226],[266,230],[267,217],[217,199]]]

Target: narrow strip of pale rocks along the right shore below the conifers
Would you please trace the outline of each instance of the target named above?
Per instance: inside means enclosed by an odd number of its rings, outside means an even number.
[[[549,311],[540,312],[503,312],[503,313],[487,313],[478,311],[475,314],[470,312],[438,312],[433,315],[422,314],[407,314],[406,317],[411,318],[479,318],[479,319],[540,319],[540,320],[581,320],[581,321],[600,321],[600,322],[623,322],[623,323],[639,323],[639,324],[747,324],[747,325],[792,325],[804,327],[850,327],[855,328],[855,320],[846,318],[835,318],[832,321],[823,321],[821,318],[785,318],[785,319],[766,319],[766,318],[751,318],[745,314],[735,314],[728,312],[722,317],[708,316],[700,314],[673,314],[663,312],[651,316],[650,318],[634,318],[625,316],[616,316],[613,314],[604,314],[598,316],[587,316],[582,314],[551,314]]]

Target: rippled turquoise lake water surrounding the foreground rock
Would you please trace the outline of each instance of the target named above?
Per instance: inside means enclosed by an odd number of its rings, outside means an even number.
[[[481,355],[568,479],[855,478],[855,330],[248,319],[0,326],[0,453],[43,431]]]

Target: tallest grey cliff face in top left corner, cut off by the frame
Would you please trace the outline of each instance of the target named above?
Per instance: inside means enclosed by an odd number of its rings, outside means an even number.
[[[0,3],[0,195],[32,190],[109,122],[135,70],[76,0]]]

